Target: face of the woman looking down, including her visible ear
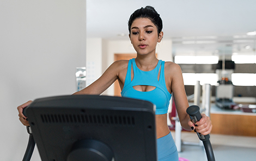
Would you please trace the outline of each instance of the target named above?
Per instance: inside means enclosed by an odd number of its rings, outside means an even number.
[[[129,37],[137,54],[155,54],[156,44],[161,42],[163,32],[158,34],[156,25],[149,18],[137,18],[131,25]]]

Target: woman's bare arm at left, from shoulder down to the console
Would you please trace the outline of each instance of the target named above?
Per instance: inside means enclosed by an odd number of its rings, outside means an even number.
[[[101,94],[118,79],[122,66],[123,62],[121,61],[113,62],[99,79],[75,94]]]

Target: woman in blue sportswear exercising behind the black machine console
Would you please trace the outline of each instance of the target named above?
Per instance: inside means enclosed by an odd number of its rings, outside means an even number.
[[[136,59],[115,61],[99,79],[74,94],[101,94],[118,80],[122,96],[153,102],[156,105],[158,160],[178,160],[178,152],[167,126],[167,111],[172,94],[183,128],[195,129],[206,135],[211,132],[211,121],[202,114],[196,126],[191,122],[186,113],[188,101],[179,65],[156,58],[156,45],[161,42],[163,32],[162,20],[153,7],[147,6],[133,12],[129,20],[129,33],[137,51]],[[23,125],[29,124],[22,110],[31,102],[17,107]]]

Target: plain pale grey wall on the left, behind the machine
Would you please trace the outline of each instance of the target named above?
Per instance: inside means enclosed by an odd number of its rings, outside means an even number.
[[[86,64],[86,1],[3,0],[0,20],[0,160],[22,160],[28,134],[16,107],[75,92],[76,67]]]

